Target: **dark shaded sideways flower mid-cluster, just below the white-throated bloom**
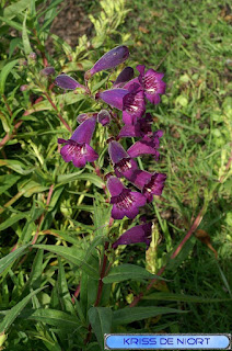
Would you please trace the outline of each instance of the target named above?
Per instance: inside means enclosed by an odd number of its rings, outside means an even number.
[[[144,117],[138,118],[136,124],[126,124],[123,126],[119,133],[119,137],[143,137],[144,135],[151,135],[152,116],[150,113],[146,113]]]

